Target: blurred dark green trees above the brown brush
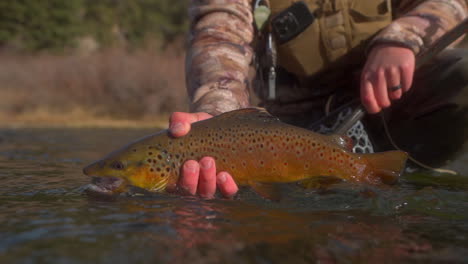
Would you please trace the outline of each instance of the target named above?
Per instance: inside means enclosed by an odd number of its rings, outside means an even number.
[[[165,47],[186,31],[186,8],[183,0],[4,0],[0,47],[64,51],[80,37],[100,47],[124,42],[138,48],[147,39]]]

